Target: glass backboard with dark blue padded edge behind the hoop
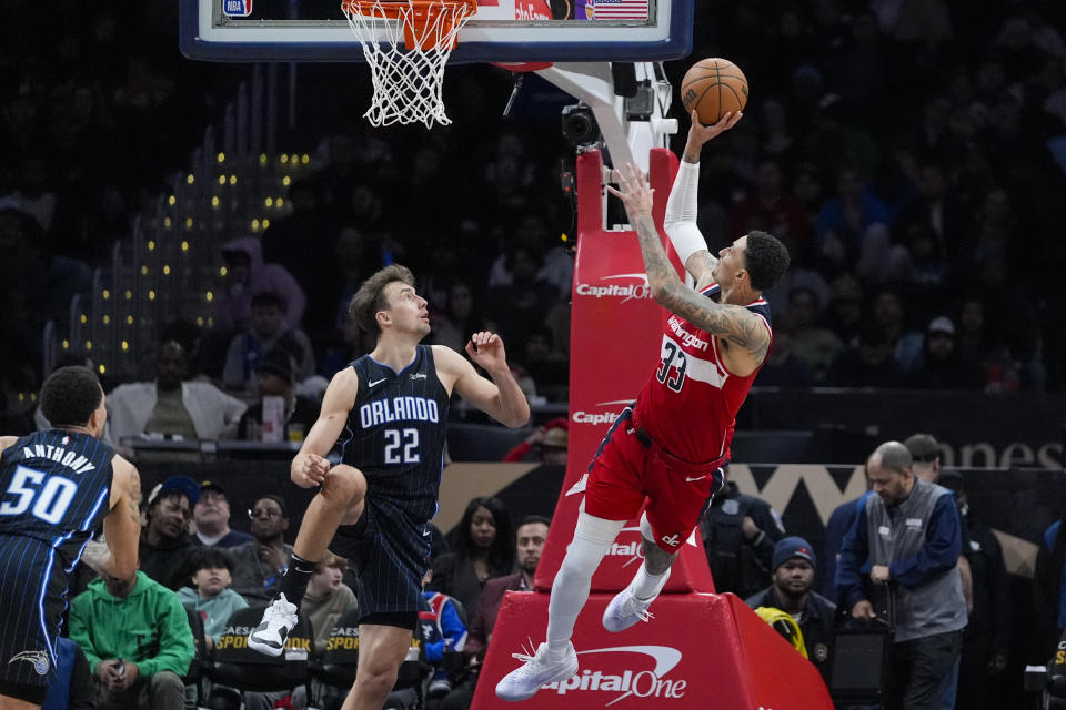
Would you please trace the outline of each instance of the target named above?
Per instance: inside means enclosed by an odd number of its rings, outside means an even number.
[[[450,63],[680,59],[693,0],[479,0]],[[209,61],[362,62],[340,0],[180,0],[181,51]]]

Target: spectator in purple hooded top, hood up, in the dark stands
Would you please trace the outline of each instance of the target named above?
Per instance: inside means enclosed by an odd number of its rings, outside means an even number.
[[[278,294],[285,323],[300,327],[308,300],[281,264],[263,262],[259,237],[244,236],[222,245],[225,276],[214,297],[214,327],[233,334],[252,325],[252,300],[261,293]]]

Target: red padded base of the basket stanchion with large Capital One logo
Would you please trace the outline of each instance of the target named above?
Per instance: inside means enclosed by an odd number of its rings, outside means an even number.
[[[833,710],[809,661],[732,595],[662,595],[648,623],[601,626],[612,595],[593,594],[574,629],[580,668],[522,703],[496,698],[511,657],[544,640],[549,596],[507,592],[472,710]]]

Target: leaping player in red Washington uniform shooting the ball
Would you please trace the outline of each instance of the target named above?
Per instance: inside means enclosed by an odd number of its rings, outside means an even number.
[[[584,509],[552,585],[547,641],[496,684],[503,700],[525,700],[541,686],[577,672],[570,641],[589,598],[592,575],[614,538],[641,518],[644,564],[607,605],[603,626],[622,631],[647,621],[647,608],[670,577],[670,566],[724,483],[737,409],[770,351],[770,306],[762,293],[788,268],[788,251],[765,232],[751,232],[715,258],[696,227],[700,152],[740,121],[727,113],[704,126],[695,114],[677,178],[666,203],[666,233],[691,274],[685,285],[663,248],[652,219],[652,190],[632,165],[617,172],[644,255],[655,301],[671,312],[661,362],[636,403],[612,425],[584,478]]]

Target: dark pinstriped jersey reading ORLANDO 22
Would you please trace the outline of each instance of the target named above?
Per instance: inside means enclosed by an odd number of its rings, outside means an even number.
[[[425,523],[436,514],[449,408],[433,349],[419,345],[414,362],[399,373],[370,355],[351,366],[359,395],[341,460],[366,476],[369,498],[388,498],[412,523]]]

